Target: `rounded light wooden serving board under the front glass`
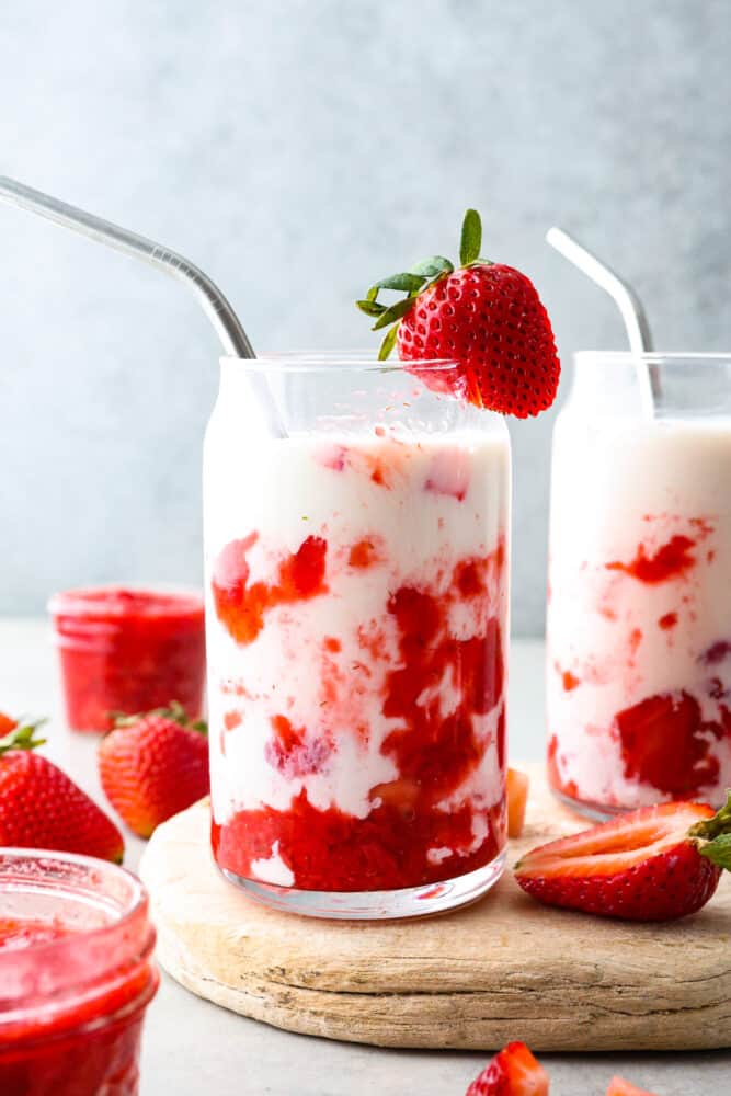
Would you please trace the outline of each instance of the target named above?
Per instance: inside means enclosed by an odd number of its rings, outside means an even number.
[[[538,767],[510,863],[583,829]],[[256,905],[208,848],[208,806],[160,826],[141,877],[158,959],[189,990],[306,1035],[382,1047],[686,1050],[731,1046],[731,879],[700,913],[632,925],[549,910],[506,871],[468,909],[327,922]]]

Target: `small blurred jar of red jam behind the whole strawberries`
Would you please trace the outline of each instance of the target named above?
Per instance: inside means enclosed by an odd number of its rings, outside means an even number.
[[[193,718],[202,713],[205,637],[197,593],[69,590],[52,597],[48,609],[75,730],[105,731],[110,712],[134,715],[172,700]]]

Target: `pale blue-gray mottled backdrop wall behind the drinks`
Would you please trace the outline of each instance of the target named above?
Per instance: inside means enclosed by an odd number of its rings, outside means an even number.
[[[728,0],[24,0],[0,14],[0,170],[208,270],[261,349],[363,346],[402,260],[530,274],[564,361],[619,346],[558,221],[631,276],[662,349],[731,344]],[[185,290],[0,208],[0,610],[196,581],[217,345]],[[517,424],[514,625],[538,633],[551,416]]]

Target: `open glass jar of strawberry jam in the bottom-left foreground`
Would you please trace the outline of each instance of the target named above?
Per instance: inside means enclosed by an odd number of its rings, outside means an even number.
[[[153,943],[123,868],[0,849],[2,1096],[135,1096]]]

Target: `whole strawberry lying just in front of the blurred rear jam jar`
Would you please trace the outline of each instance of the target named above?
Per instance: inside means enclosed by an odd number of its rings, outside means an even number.
[[[129,829],[149,837],[208,794],[206,724],[190,722],[180,705],[118,719],[100,744],[99,775]]]

